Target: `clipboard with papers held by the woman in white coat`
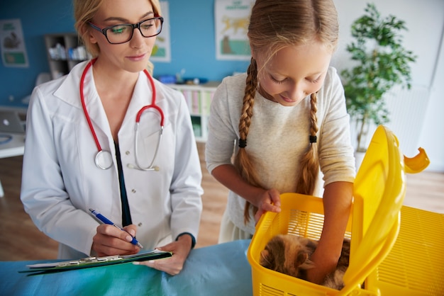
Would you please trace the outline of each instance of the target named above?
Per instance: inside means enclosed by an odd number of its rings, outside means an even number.
[[[109,266],[114,264],[128,263],[133,261],[148,261],[162,258],[170,258],[171,252],[160,250],[153,250],[145,253],[138,253],[126,256],[105,256],[105,257],[87,257],[81,259],[74,259],[70,261],[55,261],[50,263],[37,263],[27,265],[29,268],[26,271],[18,271],[19,273],[58,273],[62,271],[72,271],[74,269]]]

